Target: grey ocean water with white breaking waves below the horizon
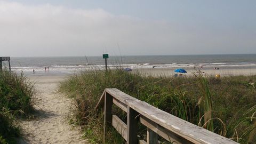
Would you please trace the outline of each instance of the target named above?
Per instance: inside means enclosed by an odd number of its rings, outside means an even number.
[[[221,55],[143,55],[111,56],[107,59],[108,67],[114,68],[252,68],[256,67],[256,54],[221,54]],[[8,66],[4,62],[5,66]],[[74,73],[77,70],[105,68],[105,59],[99,57],[11,57],[13,71],[33,74],[44,73],[49,67],[52,74]]]

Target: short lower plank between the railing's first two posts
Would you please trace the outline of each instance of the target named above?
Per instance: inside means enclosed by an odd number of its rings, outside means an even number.
[[[112,125],[127,141],[127,125],[116,115],[113,115]]]

